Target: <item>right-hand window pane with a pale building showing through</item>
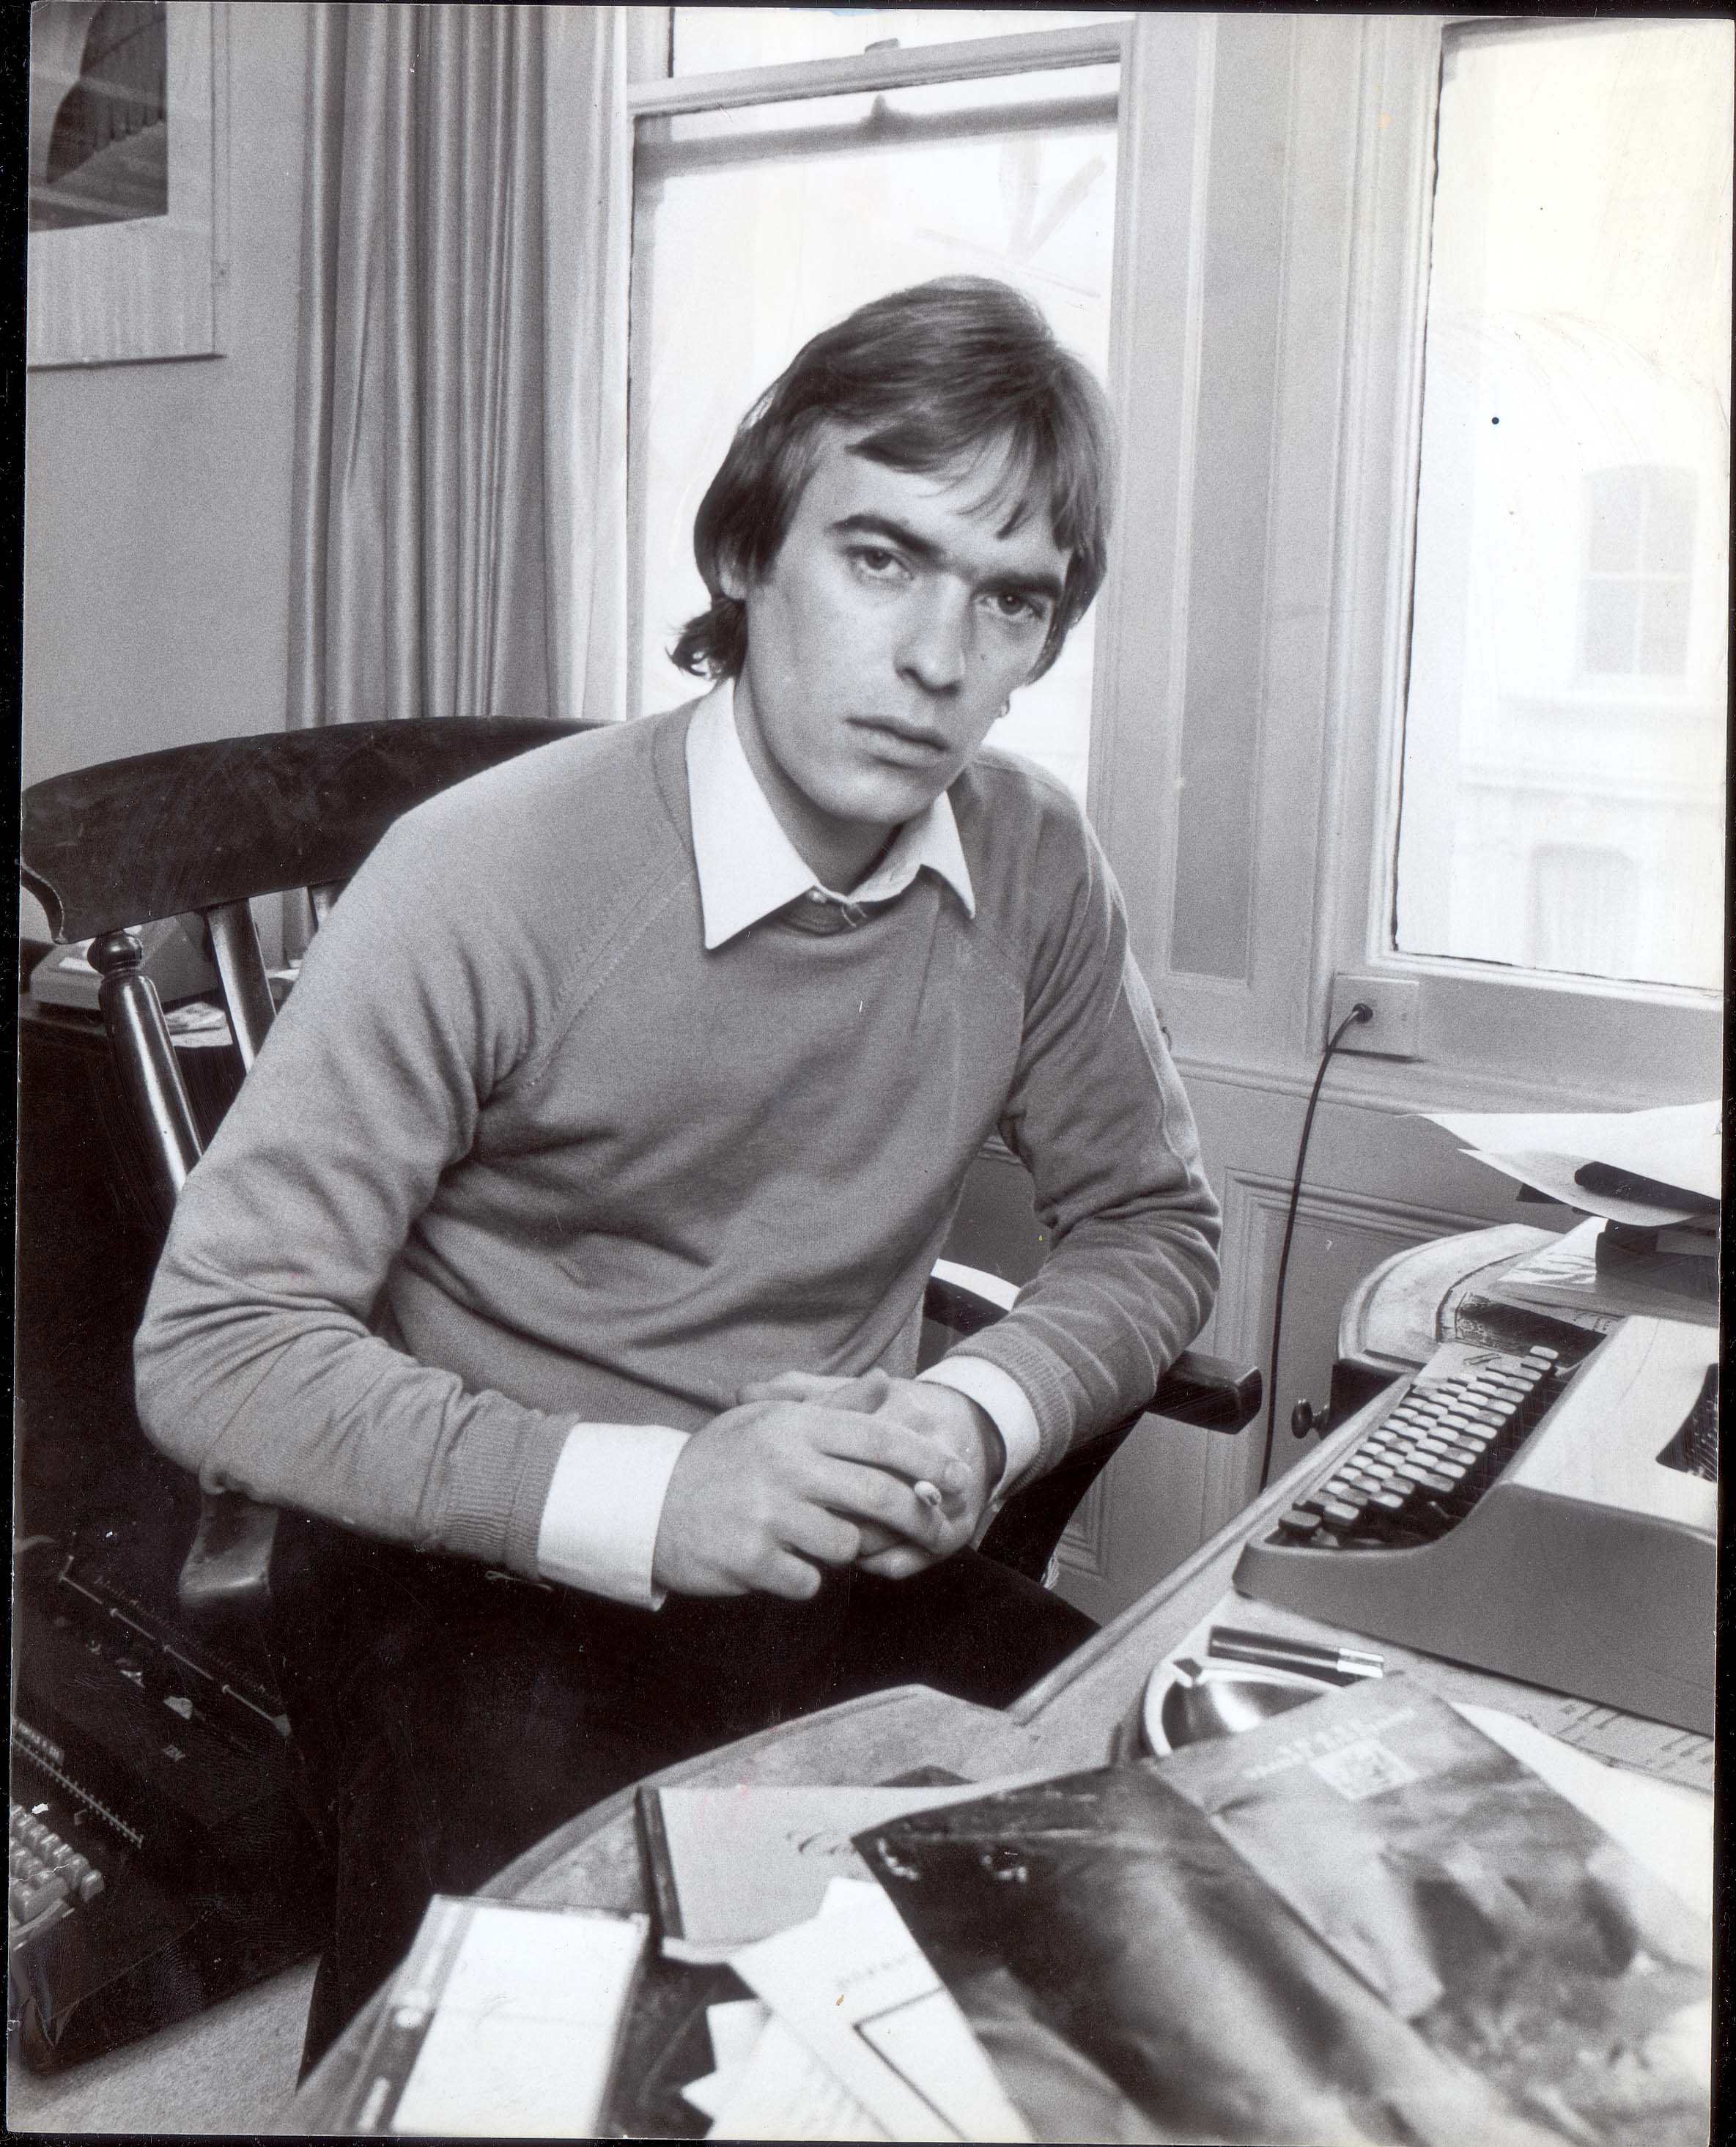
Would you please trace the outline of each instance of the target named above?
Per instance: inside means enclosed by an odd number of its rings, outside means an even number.
[[[1732,26],[1451,34],[1397,947],[1721,983]]]

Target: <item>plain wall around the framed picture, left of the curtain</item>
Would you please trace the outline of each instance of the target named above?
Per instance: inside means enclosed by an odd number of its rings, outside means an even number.
[[[26,784],[283,724],[307,9],[227,17],[225,354],[28,378]]]

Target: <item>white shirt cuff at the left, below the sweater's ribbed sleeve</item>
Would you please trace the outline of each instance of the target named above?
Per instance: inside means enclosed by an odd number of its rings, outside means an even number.
[[[661,1608],[650,1561],[687,1438],[667,1423],[575,1423],[543,1505],[536,1572],[642,1610]]]

